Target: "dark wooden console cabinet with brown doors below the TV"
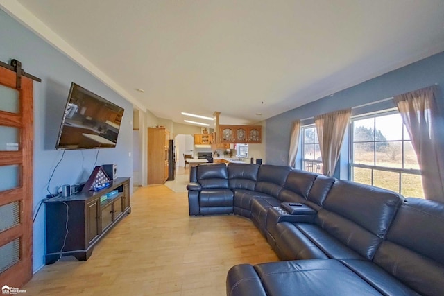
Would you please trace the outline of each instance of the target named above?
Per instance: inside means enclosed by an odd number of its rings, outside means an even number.
[[[102,195],[114,190],[119,193],[100,201]],[[91,256],[94,245],[126,214],[130,214],[130,178],[114,179],[101,191],[51,198],[45,203],[46,264],[55,263],[61,256],[74,256],[85,261]]]

